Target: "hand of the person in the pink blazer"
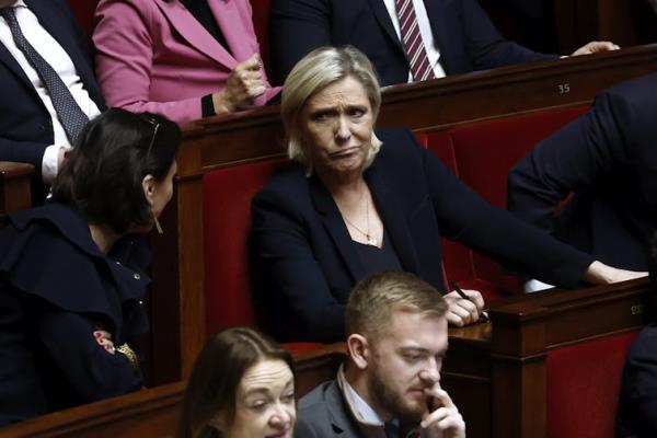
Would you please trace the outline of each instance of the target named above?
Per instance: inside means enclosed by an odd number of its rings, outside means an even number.
[[[238,64],[226,81],[226,88],[212,94],[215,113],[233,113],[240,107],[252,105],[253,100],[265,92],[260,56]]]

